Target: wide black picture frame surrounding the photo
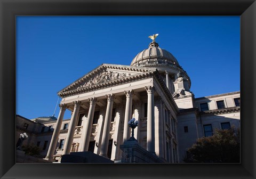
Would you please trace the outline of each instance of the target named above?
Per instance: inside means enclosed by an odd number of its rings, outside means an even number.
[[[0,5],[1,178],[255,178],[255,1],[1,0]],[[241,164],[15,164],[17,15],[241,15]]]

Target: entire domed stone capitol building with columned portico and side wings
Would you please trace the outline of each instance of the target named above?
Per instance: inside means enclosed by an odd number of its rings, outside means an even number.
[[[130,66],[101,64],[60,90],[58,118],[17,115],[17,140],[26,132],[23,144],[40,147],[48,162],[91,151],[118,163],[124,157],[121,147],[131,137],[129,120],[135,118],[140,148],[162,162],[177,163],[215,128],[239,128],[240,92],[195,98],[179,59],[152,39]],[[67,110],[71,117],[64,120]]]

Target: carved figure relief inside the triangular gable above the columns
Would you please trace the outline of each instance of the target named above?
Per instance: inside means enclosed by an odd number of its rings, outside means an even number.
[[[106,70],[104,70],[101,74],[97,74],[94,78],[91,78],[87,82],[85,82],[84,84],[78,86],[77,89],[87,87],[87,86],[92,86],[92,85],[98,85],[98,84],[101,84],[101,83],[109,82],[111,80],[124,78],[126,76],[127,75],[125,73],[118,73],[118,72],[115,72],[115,71],[106,71]]]

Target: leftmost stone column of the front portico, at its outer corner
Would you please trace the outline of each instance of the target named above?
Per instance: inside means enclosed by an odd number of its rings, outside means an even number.
[[[44,160],[49,160],[49,161],[53,160],[53,154],[54,154],[54,151],[56,149],[56,145],[57,145],[57,142],[58,142],[58,139],[59,139],[60,128],[61,128],[61,124],[62,124],[62,121],[63,121],[63,116],[64,116],[64,113],[66,111],[67,105],[66,104],[60,104],[59,106],[60,106],[60,113],[59,113],[58,120],[57,120],[56,126],[55,126],[53,134],[52,134],[52,140],[51,140],[47,155],[44,158]]]

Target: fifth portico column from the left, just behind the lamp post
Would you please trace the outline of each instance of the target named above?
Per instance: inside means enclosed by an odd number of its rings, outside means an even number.
[[[130,139],[131,136],[131,130],[128,126],[129,120],[132,118],[132,96],[133,91],[124,91],[126,95],[126,105],[125,105],[125,116],[124,116],[124,136],[123,136],[123,142]]]

